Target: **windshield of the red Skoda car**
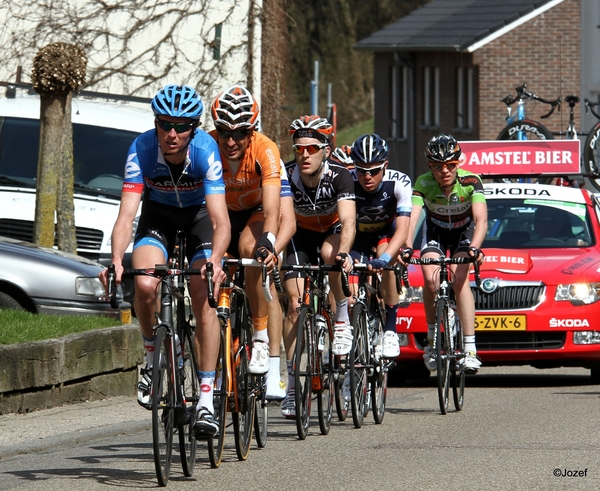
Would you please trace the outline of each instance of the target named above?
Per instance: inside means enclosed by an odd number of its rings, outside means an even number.
[[[507,249],[587,247],[595,242],[587,207],[535,199],[488,200],[483,247]]]

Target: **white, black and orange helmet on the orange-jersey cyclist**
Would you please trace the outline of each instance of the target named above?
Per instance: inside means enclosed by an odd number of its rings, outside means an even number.
[[[211,115],[215,125],[230,130],[250,129],[258,124],[260,109],[246,87],[232,85],[214,100]]]

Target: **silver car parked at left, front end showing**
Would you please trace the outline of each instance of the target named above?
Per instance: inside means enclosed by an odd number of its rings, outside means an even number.
[[[0,236],[0,309],[106,315],[131,322],[131,305],[113,309],[98,279],[103,266],[75,254]]]

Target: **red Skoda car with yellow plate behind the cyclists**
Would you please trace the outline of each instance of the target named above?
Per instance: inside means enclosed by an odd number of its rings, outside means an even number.
[[[481,288],[471,281],[482,370],[575,366],[589,368],[600,382],[598,197],[586,189],[528,183],[486,184],[485,194]],[[409,278],[412,288],[401,299],[396,325],[401,373],[411,378],[426,375],[427,327],[420,267],[411,265]]]

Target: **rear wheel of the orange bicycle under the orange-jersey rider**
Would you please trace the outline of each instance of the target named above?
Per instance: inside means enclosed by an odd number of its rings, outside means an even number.
[[[239,460],[246,460],[252,443],[256,392],[252,386],[253,376],[248,373],[249,353],[252,350],[252,317],[244,295],[234,292],[232,312],[235,312],[234,333],[239,338],[240,348],[235,353],[235,383],[238,410],[232,413],[235,434],[235,451]]]

